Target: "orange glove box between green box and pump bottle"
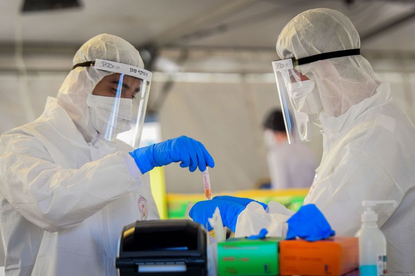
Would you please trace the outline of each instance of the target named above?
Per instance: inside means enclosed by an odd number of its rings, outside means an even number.
[[[319,241],[280,241],[280,275],[343,275],[359,267],[359,242],[353,237]]]

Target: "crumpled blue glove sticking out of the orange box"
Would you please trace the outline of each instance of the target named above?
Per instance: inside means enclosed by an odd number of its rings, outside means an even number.
[[[287,239],[300,237],[308,241],[315,241],[327,239],[335,234],[323,213],[314,204],[301,206],[287,222]]]

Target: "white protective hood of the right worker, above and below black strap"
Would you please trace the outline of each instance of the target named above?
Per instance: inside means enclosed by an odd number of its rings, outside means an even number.
[[[291,19],[276,43],[281,59],[359,48],[360,37],[350,19],[326,8],[308,10]],[[329,117],[344,114],[371,97],[380,84],[361,55],[318,60],[300,65],[299,71],[315,83],[323,112]]]

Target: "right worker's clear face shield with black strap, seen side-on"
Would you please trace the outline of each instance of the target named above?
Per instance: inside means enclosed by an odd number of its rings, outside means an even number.
[[[360,55],[360,49],[342,50],[300,59],[287,58],[272,61],[281,110],[290,144],[310,142],[319,135],[317,115],[323,106],[315,82],[301,74],[301,65],[322,59]]]

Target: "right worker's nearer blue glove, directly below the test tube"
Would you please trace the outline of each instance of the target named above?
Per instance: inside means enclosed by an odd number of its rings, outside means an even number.
[[[235,232],[238,215],[246,207],[245,205],[236,202],[213,199],[196,202],[189,211],[189,217],[192,218],[193,221],[196,221],[205,227],[207,226],[207,230],[210,231],[213,228],[210,226],[207,219],[212,217],[216,207],[219,207],[219,211],[221,212],[223,225]]]

